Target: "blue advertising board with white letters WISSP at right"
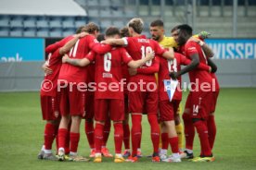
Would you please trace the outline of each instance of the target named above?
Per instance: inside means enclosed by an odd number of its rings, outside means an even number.
[[[216,59],[256,59],[256,39],[207,39]]]

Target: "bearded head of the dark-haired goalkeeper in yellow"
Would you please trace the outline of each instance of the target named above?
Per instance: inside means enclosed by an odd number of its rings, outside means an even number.
[[[160,42],[164,35],[163,22],[160,19],[150,23],[150,33],[153,40]]]

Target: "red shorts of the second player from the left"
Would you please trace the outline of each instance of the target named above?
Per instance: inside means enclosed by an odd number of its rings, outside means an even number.
[[[70,91],[71,90],[71,91]],[[78,91],[76,85],[70,85],[60,90],[60,113],[61,115],[83,115],[85,93]]]

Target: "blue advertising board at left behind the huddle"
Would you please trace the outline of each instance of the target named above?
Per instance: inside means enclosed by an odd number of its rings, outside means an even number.
[[[44,39],[0,38],[0,62],[43,61],[44,59]]]

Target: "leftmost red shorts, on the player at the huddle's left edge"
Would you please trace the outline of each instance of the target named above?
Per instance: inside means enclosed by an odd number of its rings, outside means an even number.
[[[59,96],[40,96],[43,120],[56,120],[59,117]],[[55,115],[58,112],[58,115]]]

